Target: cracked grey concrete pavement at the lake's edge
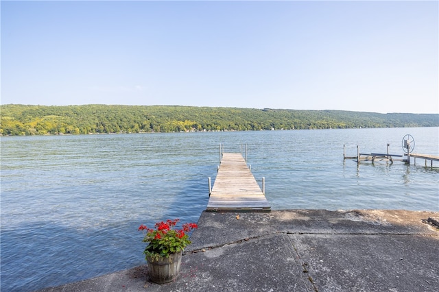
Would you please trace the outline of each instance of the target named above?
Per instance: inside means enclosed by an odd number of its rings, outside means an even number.
[[[439,212],[203,212],[175,282],[147,265],[60,291],[438,291]]]

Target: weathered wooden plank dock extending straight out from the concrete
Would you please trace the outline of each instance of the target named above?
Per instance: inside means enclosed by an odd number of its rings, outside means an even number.
[[[270,212],[270,204],[241,154],[222,154],[206,211]]]

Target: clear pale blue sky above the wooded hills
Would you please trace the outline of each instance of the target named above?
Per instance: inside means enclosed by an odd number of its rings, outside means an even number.
[[[1,1],[1,104],[439,113],[438,1]]]

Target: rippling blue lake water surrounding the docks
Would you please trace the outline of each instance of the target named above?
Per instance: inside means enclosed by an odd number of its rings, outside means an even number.
[[[1,138],[1,290],[34,291],[145,264],[141,223],[196,222],[219,143],[239,152],[273,209],[439,211],[439,169],[343,159],[439,155],[439,128]]]

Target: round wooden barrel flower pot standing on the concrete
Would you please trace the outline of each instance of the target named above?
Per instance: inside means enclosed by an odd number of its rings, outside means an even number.
[[[160,256],[158,259],[147,256],[151,282],[165,284],[176,280],[180,271],[182,252],[170,254],[169,258]]]

